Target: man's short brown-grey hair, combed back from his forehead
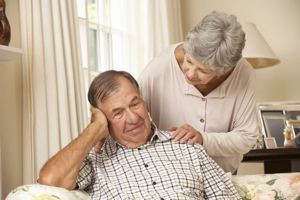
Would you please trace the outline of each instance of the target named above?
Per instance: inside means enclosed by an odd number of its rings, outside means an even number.
[[[141,94],[137,81],[126,71],[107,70],[98,74],[90,83],[87,98],[90,105],[99,108],[101,102],[108,94],[116,91],[120,82],[118,78],[123,76],[127,78],[135,87],[136,91]]]

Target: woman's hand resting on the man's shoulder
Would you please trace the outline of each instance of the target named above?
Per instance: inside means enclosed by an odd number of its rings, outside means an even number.
[[[191,140],[188,141],[188,144],[193,144],[195,142],[198,142],[201,145],[203,144],[201,133],[188,124],[184,124],[180,127],[169,127],[168,129],[169,131],[175,131],[171,138],[176,141],[180,140],[181,143],[184,143],[191,138]]]

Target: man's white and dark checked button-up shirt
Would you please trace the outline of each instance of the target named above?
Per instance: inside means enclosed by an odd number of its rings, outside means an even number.
[[[137,148],[110,135],[100,153],[91,149],[76,183],[94,199],[240,199],[224,171],[198,144],[180,143],[158,130]]]

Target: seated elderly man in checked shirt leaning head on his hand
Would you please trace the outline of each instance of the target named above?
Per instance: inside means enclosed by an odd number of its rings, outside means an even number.
[[[200,144],[151,123],[129,73],[99,74],[88,100],[91,123],[45,163],[40,184],[84,189],[92,199],[240,199]]]

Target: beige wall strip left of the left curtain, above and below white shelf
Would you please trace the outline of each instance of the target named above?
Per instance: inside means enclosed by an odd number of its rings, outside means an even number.
[[[21,47],[19,0],[6,0],[9,46]],[[0,139],[2,199],[22,184],[22,68],[21,56],[0,66]]]

